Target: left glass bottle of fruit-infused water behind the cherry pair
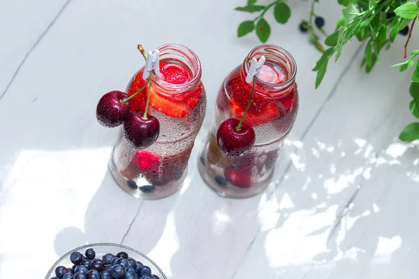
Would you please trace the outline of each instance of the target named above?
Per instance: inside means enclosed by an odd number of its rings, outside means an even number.
[[[146,86],[131,99],[131,111],[145,112],[149,93],[147,114],[158,119],[159,136],[149,147],[137,148],[132,144],[135,133],[128,139],[126,132],[127,129],[138,130],[138,127],[135,121],[132,125],[125,121],[110,160],[112,176],[119,186],[134,197],[146,199],[166,197],[182,186],[206,107],[196,54],[182,45],[163,45],[157,50],[160,52],[159,73],[152,70],[151,86],[142,78],[145,70],[142,67],[129,82],[126,93],[132,96]]]

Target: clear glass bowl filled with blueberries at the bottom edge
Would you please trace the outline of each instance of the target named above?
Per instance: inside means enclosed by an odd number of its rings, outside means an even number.
[[[95,243],[59,258],[45,279],[167,279],[146,255],[126,246]]]

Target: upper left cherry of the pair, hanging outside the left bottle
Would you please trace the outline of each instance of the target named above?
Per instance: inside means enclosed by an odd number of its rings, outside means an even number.
[[[105,127],[112,128],[124,123],[131,110],[131,102],[122,103],[128,98],[122,91],[110,91],[102,96],[96,107],[96,119]]]

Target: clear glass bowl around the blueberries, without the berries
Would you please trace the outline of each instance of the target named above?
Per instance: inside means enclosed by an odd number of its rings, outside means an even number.
[[[72,252],[80,252],[84,255],[84,252],[89,249],[93,248],[96,252],[96,257],[98,259],[102,259],[102,256],[106,253],[112,253],[113,255],[117,255],[118,252],[126,252],[128,254],[128,257],[132,257],[136,261],[142,262],[145,266],[149,266],[150,269],[152,269],[152,273],[156,276],[159,276],[160,279],[167,279],[167,277],[164,275],[163,271],[157,266],[157,264],[154,264],[154,262],[149,259],[146,255],[138,252],[137,250],[134,250],[132,248],[122,246],[120,244],[114,244],[114,243],[93,243],[93,244],[87,244],[84,246],[80,246],[78,248],[75,248],[74,250],[71,250],[70,252],[67,252],[66,255],[60,257],[57,262],[55,262],[51,268],[50,271],[48,271],[47,276],[45,276],[45,279],[50,279],[55,276],[55,269],[57,266],[73,266],[73,263],[70,261],[70,255]]]

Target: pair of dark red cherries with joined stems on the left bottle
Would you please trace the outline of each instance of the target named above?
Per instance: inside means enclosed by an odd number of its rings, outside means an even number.
[[[138,45],[142,56],[147,61],[145,51],[141,45]],[[105,127],[113,128],[124,125],[125,137],[138,149],[145,149],[156,142],[159,137],[160,123],[156,117],[147,114],[149,105],[149,96],[151,89],[151,75],[146,85],[139,91],[128,97],[128,94],[122,91],[110,91],[102,96],[96,107],[96,119]],[[131,98],[148,88],[147,105],[145,112],[131,111]]]

